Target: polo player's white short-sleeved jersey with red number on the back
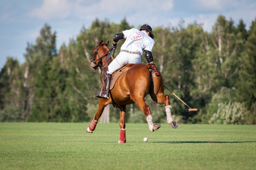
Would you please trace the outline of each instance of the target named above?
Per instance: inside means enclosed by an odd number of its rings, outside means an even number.
[[[126,38],[126,40],[122,45],[121,50],[139,52],[140,55],[142,55],[143,50],[152,52],[155,42],[144,31],[132,28],[130,30],[124,30],[122,33],[124,34],[124,38]]]

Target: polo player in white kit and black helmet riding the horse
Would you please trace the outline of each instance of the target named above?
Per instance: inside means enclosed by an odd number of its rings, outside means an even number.
[[[98,98],[108,98],[110,91],[110,79],[113,72],[123,67],[125,64],[139,64],[141,63],[141,56],[146,52],[146,62],[151,64],[156,76],[159,76],[159,71],[153,63],[152,48],[155,44],[154,34],[151,26],[144,24],[139,30],[132,28],[124,30],[122,33],[114,35],[113,47],[117,47],[118,40],[126,39],[121,47],[119,55],[110,63],[108,69],[103,70],[103,82]]]

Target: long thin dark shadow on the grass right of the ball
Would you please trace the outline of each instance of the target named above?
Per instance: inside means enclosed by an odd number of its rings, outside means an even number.
[[[152,142],[152,143],[171,143],[171,144],[183,144],[183,143],[220,143],[220,144],[234,144],[234,143],[256,143],[256,141],[180,141],[180,142]]]

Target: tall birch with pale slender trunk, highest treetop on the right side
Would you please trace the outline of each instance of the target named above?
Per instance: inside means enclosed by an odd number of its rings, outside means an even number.
[[[233,20],[227,21],[225,16],[218,16],[215,25],[213,26],[213,33],[211,34],[211,40],[215,47],[214,64],[217,67],[218,74],[220,76],[221,86],[231,87],[235,85],[238,72],[238,57],[237,43],[236,43],[236,29],[233,26]]]

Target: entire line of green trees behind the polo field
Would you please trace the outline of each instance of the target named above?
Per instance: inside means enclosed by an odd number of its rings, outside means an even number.
[[[143,24],[143,23],[142,23]],[[120,23],[95,19],[76,38],[56,47],[57,33],[45,24],[35,44],[28,43],[19,64],[8,57],[0,72],[0,121],[84,122],[97,112],[95,94],[100,72],[89,67],[92,50],[100,40],[112,43],[113,35],[136,28],[126,19]],[[139,26],[137,27],[139,28]],[[189,106],[169,94],[171,111],[178,123],[256,123],[256,18],[250,29],[240,20],[218,16],[210,33],[201,24],[153,29],[154,62],[164,84]],[[115,51],[119,53],[124,40]],[[142,56],[142,63],[146,63]],[[165,108],[151,101],[154,122],[166,122]],[[135,104],[127,107],[127,122],[145,122]],[[110,107],[110,121],[119,121],[119,109]]]

